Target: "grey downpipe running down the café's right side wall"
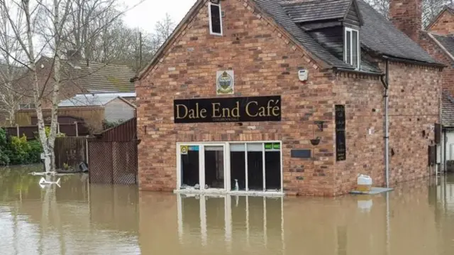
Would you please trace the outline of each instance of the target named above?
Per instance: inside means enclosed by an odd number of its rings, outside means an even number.
[[[384,176],[389,188],[389,60],[385,60],[385,73],[380,77],[384,87]]]

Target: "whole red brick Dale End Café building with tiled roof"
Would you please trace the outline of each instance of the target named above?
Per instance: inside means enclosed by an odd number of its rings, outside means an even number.
[[[362,0],[196,1],[135,84],[140,190],[384,185],[385,92],[389,183],[429,175],[443,65],[392,13],[409,36]]]

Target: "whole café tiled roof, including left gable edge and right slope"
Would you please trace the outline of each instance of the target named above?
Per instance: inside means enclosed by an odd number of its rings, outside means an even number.
[[[358,10],[360,27],[360,43],[363,52],[377,57],[396,58],[397,60],[412,60],[421,65],[437,65],[442,67],[421,46],[411,40],[405,33],[399,31],[392,21],[375,11],[363,0],[251,0],[264,16],[269,16],[277,25],[287,32],[291,39],[309,50],[311,57],[326,67],[353,70],[353,66],[345,63],[340,55],[335,55],[332,48],[322,45],[311,33],[305,31],[304,23],[341,21],[348,13],[350,6]],[[183,20],[179,23],[170,38],[161,46],[154,55],[153,60],[140,72],[139,79],[157,63],[157,60],[167,49],[173,38],[185,28],[184,24],[190,22],[196,15],[200,6],[206,0],[198,0],[192,6]],[[335,23],[336,23],[335,22]],[[339,47],[336,45],[335,47]],[[375,63],[370,63],[365,54],[361,54],[362,71],[382,73]]]

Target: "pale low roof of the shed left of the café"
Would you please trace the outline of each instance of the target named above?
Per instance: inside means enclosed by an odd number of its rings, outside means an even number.
[[[121,95],[131,94],[135,93],[77,94],[75,97],[60,102],[58,107],[103,107],[117,98],[131,104],[121,97]]]

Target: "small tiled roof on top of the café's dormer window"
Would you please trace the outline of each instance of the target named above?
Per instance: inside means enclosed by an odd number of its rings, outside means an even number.
[[[294,23],[343,18],[351,0],[308,0],[282,3],[282,8]]]

